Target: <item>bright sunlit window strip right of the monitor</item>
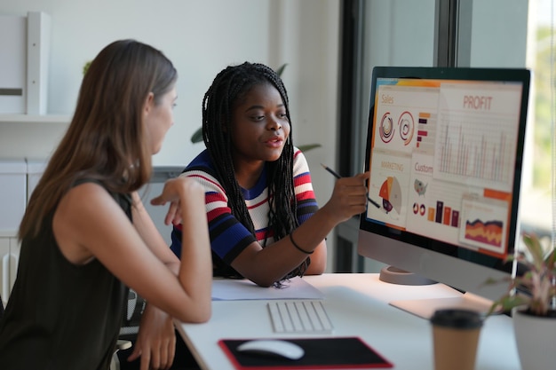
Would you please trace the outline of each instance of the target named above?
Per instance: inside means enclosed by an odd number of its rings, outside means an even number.
[[[533,71],[528,126],[533,143],[526,161],[530,172],[524,185],[523,219],[529,228],[551,235],[556,228],[556,5],[554,0],[529,1],[527,67]]]

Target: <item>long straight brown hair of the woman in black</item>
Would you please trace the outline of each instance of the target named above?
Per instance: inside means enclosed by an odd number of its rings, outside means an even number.
[[[75,114],[31,195],[19,238],[36,235],[75,181],[99,180],[115,193],[146,184],[152,164],[142,108],[171,91],[178,74],[161,51],[134,40],[110,43],[83,77]]]

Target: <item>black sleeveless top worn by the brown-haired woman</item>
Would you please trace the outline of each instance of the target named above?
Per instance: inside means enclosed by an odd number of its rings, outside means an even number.
[[[131,220],[131,197],[112,194]],[[0,320],[0,369],[102,369],[114,354],[126,289],[94,259],[61,254],[53,212],[24,238],[12,295]]]

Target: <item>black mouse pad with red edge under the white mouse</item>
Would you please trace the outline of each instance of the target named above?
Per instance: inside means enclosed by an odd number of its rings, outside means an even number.
[[[278,339],[278,338],[272,338]],[[243,342],[253,339],[221,339],[218,345],[238,370],[278,369],[374,369],[391,368],[393,364],[380,356],[361,338],[355,336],[330,338],[281,338],[298,344],[305,355],[293,360],[272,355],[261,355],[237,350]]]

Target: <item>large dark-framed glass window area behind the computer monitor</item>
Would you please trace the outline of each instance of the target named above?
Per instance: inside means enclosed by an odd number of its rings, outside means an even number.
[[[546,236],[556,221],[554,115],[556,0],[346,0],[342,2],[339,171],[361,171],[372,68],[528,67],[533,72],[520,217]],[[350,124],[346,124],[350,122]],[[363,267],[354,248],[357,219],[337,227],[338,272]]]

